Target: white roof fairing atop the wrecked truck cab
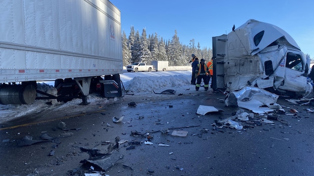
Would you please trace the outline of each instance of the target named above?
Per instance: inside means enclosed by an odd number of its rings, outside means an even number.
[[[264,23],[264,22],[260,22],[257,20],[253,20],[250,19],[248,20],[245,24],[241,25],[239,28],[235,29],[235,33],[239,30],[245,30],[248,33],[248,42],[250,43],[250,51],[251,51],[251,55],[255,55],[256,53],[260,52],[261,50],[263,50],[264,48],[266,48],[267,46],[269,46],[269,44],[271,44],[272,42],[276,41],[277,39],[281,38],[284,36],[284,38],[287,40],[287,43],[281,43],[281,44],[286,44],[286,45],[291,45],[299,50],[300,47],[299,45],[296,43],[296,41],[285,31],[283,31],[282,29],[280,29],[277,26],[271,25],[269,23]],[[261,41],[258,42],[257,46],[254,43],[254,36],[261,33],[262,31],[264,31],[264,35],[261,38]]]

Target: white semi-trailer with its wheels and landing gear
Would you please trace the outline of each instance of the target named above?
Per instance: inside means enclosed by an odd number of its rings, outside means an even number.
[[[110,1],[1,0],[0,13],[0,104],[33,103],[42,80],[83,105],[91,83],[121,96],[121,12]]]

